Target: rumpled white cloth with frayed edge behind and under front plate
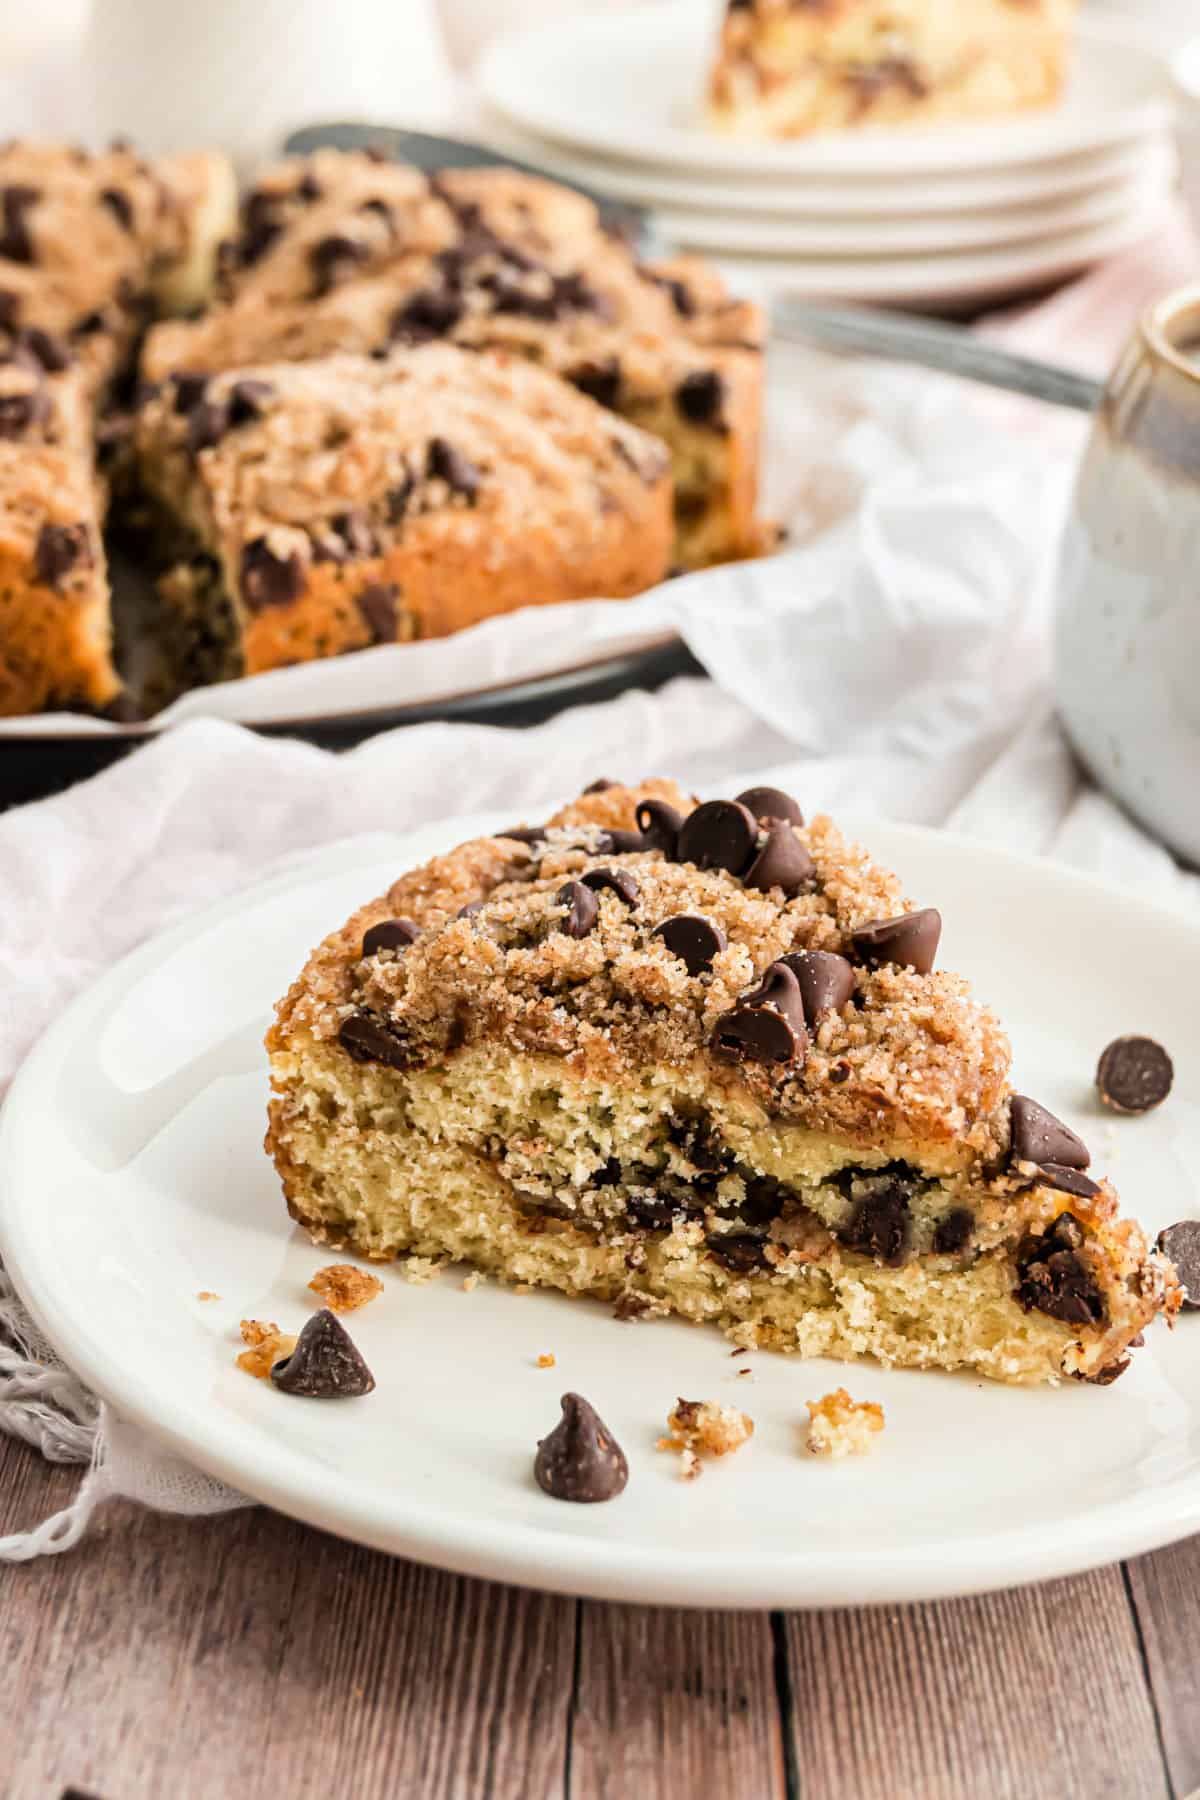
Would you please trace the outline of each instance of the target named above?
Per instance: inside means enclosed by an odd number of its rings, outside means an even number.
[[[1076,360],[1103,362],[1144,281],[1180,254],[1168,245],[1101,272],[1006,331],[1042,351],[1047,335],[1056,347],[1070,333]],[[554,632],[594,630],[597,617],[619,632],[640,607],[682,632],[711,680],[628,693],[533,731],[421,725],[345,756],[194,720],[0,817],[11,995],[0,1085],[113,958],[281,862],[493,806],[536,819],[597,776],[669,770],[702,790],[770,778],[808,812],[945,823],[1200,907],[1200,877],[1090,787],[1054,722],[1054,547],[1081,421],[937,378],[788,355],[772,414],[770,484],[797,549],[669,583],[633,608],[529,616]],[[0,1559],[68,1548],[110,1494],[176,1512],[243,1503],[97,1406],[2,1273],[0,1429],[92,1463],[76,1503],[0,1541]]]

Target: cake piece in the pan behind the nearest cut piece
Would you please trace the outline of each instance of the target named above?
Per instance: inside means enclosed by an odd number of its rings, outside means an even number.
[[[757,308],[693,261],[642,266],[581,194],[507,169],[434,180],[365,153],[264,171],[223,259],[223,302],[151,333],[151,380],[448,340],[500,349],[658,436],[673,560],[756,554]]]

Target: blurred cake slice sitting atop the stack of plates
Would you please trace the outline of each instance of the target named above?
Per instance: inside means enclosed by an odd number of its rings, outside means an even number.
[[[709,122],[802,137],[1043,106],[1074,14],[1076,0],[729,0]]]

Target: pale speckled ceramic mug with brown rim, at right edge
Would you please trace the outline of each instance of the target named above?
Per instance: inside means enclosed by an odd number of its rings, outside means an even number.
[[[1060,565],[1058,704],[1097,781],[1200,864],[1200,286],[1105,389]]]

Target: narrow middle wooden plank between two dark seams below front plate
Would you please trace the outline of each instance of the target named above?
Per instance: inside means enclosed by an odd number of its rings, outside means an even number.
[[[783,1796],[770,1620],[583,1602],[569,1791]]]

